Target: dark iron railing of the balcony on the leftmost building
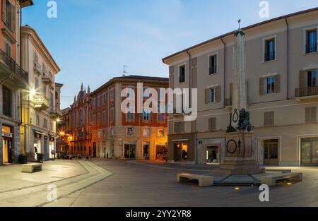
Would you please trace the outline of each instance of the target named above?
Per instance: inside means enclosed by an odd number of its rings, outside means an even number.
[[[13,74],[13,78],[22,80],[23,83],[28,84],[28,73],[24,71],[16,61],[11,59],[4,51],[0,49],[0,62],[9,72]]]

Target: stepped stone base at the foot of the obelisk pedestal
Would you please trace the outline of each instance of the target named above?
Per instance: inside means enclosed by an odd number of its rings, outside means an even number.
[[[264,174],[265,169],[259,167],[256,161],[230,161],[227,160],[220,165],[220,169],[216,169],[216,174],[228,175],[252,175]]]

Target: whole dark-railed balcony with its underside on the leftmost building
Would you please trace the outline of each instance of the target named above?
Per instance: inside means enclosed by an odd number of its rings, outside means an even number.
[[[19,88],[28,86],[28,73],[0,49],[0,80],[5,78],[13,80]]]

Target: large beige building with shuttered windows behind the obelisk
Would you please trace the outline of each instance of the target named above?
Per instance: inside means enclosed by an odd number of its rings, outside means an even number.
[[[248,109],[261,165],[318,165],[317,29],[318,8],[243,29]],[[225,160],[233,48],[230,32],[163,59],[170,66],[171,88],[198,88],[196,121],[170,116],[170,162]]]

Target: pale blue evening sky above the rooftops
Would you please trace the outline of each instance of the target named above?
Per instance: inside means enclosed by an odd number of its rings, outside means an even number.
[[[61,107],[81,83],[95,90],[114,76],[168,76],[163,57],[242,26],[258,23],[259,0],[49,0],[23,9],[23,24],[37,30],[61,72]],[[270,18],[318,6],[317,0],[270,0]]]

